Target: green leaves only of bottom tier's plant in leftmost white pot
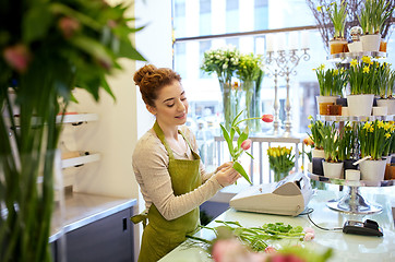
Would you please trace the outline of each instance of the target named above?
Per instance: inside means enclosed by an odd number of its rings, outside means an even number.
[[[337,163],[338,158],[338,146],[339,146],[339,135],[338,130],[335,127],[335,122],[332,124],[325,124],[322,129],[319,130],[321,133],[323,143],[322,146],[325,153],[325,160],[328,163]]]

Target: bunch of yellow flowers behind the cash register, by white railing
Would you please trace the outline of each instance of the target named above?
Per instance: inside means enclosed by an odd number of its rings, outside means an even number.
[[[279,181],[288,176],[289,171],[295,166],[295,154],[292,154],[292,147],[268,147],[267,156],[270,167],[274,171],[275,181]]]

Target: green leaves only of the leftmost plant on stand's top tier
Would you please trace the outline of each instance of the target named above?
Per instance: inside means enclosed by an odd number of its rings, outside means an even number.
[[[340,4],[337,4],[337,2],[332,2],[328,7],[325,8],[335,28],[334,38],[344,38],[345,36],[344,31],[346,27],[346,17],[347,17],[346,8],[347,8],[347,2],[344,0],[340,2]]]

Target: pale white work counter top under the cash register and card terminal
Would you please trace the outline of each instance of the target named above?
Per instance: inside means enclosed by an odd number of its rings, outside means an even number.
[[[330,210],[326,202],[332,199],[339,198],[342,192],[334,191],[316,191],[316,194],[309,203],[309,207],[314,209],[310,215],[312,221],[326,228],[343,227],[346,221],[364,221],[374,219],[382,227],[384,237],[367,237],[357,235],[347,235],[342,230],[326,231],[316,228],[311,224],[307,215],[278,216],[258,213],[238,212],[232,209],[227,210],[216,219],[220,221],[238,221],[244,227],[260,226],[265,223],[283,222],[291,226],[312,227],[315,230],[315,238],[312,241],[303,242],[307,247],[318,251],[323,251],[326,248],[334,249],[334,255],[330,261],[395,261],[395,229],[394,218],[392,215],[390,201],[385,195],[371,194],[367,195],[369,201],[378,202],[383,206],[383,212],[371,215],[348,215],[345,213]],[[210,227],[216,226],[215,222],[208,224]],[[212,230],[202,229],[196,236],[213,239]],[[297,240],[275,241],[274,246],[292,245]],[[300,242],[299,242],[300,243]],[[181,262],[181,261],[212,261],[206,253],[200,248],[187,248],[181,245],[173,251],[164,257],[160,262]]]

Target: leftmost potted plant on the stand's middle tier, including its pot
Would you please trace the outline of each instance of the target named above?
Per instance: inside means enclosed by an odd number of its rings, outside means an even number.
[[[320,115],[330,115],[327,107],[336,104],[347,84],[347,74],[343,68],[326,69],[325,64],[313,69],[320,86],[320,96],[316,96],[318,111]]]

